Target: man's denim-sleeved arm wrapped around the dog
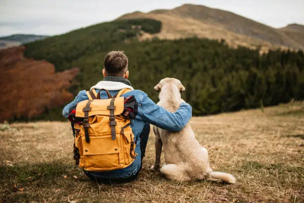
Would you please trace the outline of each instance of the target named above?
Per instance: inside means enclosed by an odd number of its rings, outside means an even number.
[[[146,93],[139,101],[139,114],[142,119],[157,127],[169,131],[180,131],[189,122],[192,116],[192,107],[182,102],[175,112],[170,112],[156,105]]]

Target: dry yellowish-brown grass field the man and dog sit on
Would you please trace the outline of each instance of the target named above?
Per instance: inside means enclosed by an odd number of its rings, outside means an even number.
[[[303,203],[304,102],[193,117],[196,138],[212,168],[235,185],[176,182],[148,171],[154,136],[139,180],[120,185],[89,181],[72,156],[68,122],[2,124],[0,203]]]

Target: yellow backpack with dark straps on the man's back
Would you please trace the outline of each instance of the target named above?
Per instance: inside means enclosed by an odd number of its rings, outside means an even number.
[[[130,119],[121,116],[124,97],[120,96],[131,90],[122,89],[113,98],[107,90],[100,91],[106,91],[109,99],[98,99],[100,92],[91,90],[86,92],[89,100],[76,106],[76,117],[83,117],[83,124],[75,124],[74,153],[79,151],[79,167],[86,171],[123,169],[137,155]]]

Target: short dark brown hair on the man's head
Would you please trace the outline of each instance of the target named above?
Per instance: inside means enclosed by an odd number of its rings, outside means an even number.
[[[104,69],[108,76],[124,76],[128,58],[123,51],[111,51],[104,58]]]

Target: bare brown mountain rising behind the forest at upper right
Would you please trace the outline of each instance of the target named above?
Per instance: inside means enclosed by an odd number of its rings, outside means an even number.
[[[158,9],[148,13],[140,11],[125,14],[118,19],[152,18],[160,20],[163,27],[155,36],[161,39],[177,39],[189,36],[225,39],[229,45],[249,48],[304,49],[299,38],[286,35],[280,29],[264,25],[229,11],[203,5],[184,4],[171,10]],[[151,38],[154,36],[146,36]]]

